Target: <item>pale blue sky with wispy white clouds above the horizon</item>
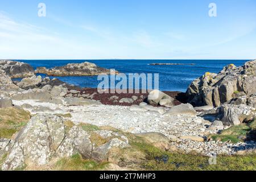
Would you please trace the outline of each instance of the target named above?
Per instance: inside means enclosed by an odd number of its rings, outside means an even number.
[[[1,0],[0,59],[256,59],[256,1]]]

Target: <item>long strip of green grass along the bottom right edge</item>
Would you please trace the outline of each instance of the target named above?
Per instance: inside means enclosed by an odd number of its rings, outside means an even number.
[[[199,154],[171,153],[144,142],[131,142],[133,148],[146,154],[141,169],[156,171],[228,171],[256,170],[256,154],[246,156],[217,156],[217,164],[210,165],[209,158]]]

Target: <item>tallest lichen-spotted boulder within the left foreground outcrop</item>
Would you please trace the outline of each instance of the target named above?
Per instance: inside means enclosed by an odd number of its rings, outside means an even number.
[[[63,120],[55,115],[39,114],[19,131],[15,146],[3,163],[3,170],[14,170],[26,164],[45,165],[65,137]]]

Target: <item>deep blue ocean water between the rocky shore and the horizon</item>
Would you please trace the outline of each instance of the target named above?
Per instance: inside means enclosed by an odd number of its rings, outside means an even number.
[[[68,63],[89,61],[100,67],[115,69],[121,73],[159,73],[159,89],[164,91],[185,92],[195,78],[205,72],[218,73],[225,65],[243,65],[248,60],[22,60],[36,67],[52,68]],[[195,65],[149,65],[151,63],[180,63]],[[42,77],[46,75],[40,74]],[[53,77],[51,77],[53,78]],[[61,81],[81,87],[97,88],[101,81],[97,76],[56,77]],[[153,77],[154,80],[154,77]],[[118,82],[118,81],[117,81]],[[154,86],[154,84],[153,84]]]

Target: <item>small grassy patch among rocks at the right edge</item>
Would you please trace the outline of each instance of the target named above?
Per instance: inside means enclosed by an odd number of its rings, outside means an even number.
[[[213,140],[221,140],[222,142],[237,143],[245,140],[256,139],[256,119],[249,123],[241,123],[237,126],[232,126],[229,129],[221,131],[220,134],[210,135]]]

